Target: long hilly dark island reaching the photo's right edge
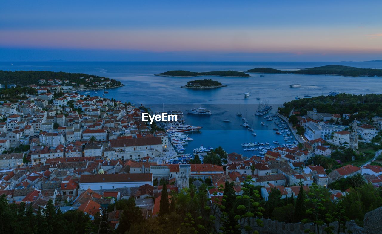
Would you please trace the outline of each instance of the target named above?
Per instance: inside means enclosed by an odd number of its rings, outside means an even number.
[[[282,71],[273,68],[254,68],[247,72],[254,73],[289,73],[312,75],[340,75],[340,76],[382,76],[382,69],[348,67],[342,65],[326,65],[322,67],[304,68],[296,71]]]

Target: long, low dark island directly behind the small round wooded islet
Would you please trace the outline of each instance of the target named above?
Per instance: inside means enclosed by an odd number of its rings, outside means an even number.
[[[226,76],[226,77],[250,77],[244,72],[236,71],[212,71],[212,72],[189,72],[184,70],[168,71],[155,76],[193,77],[193,76]]]

